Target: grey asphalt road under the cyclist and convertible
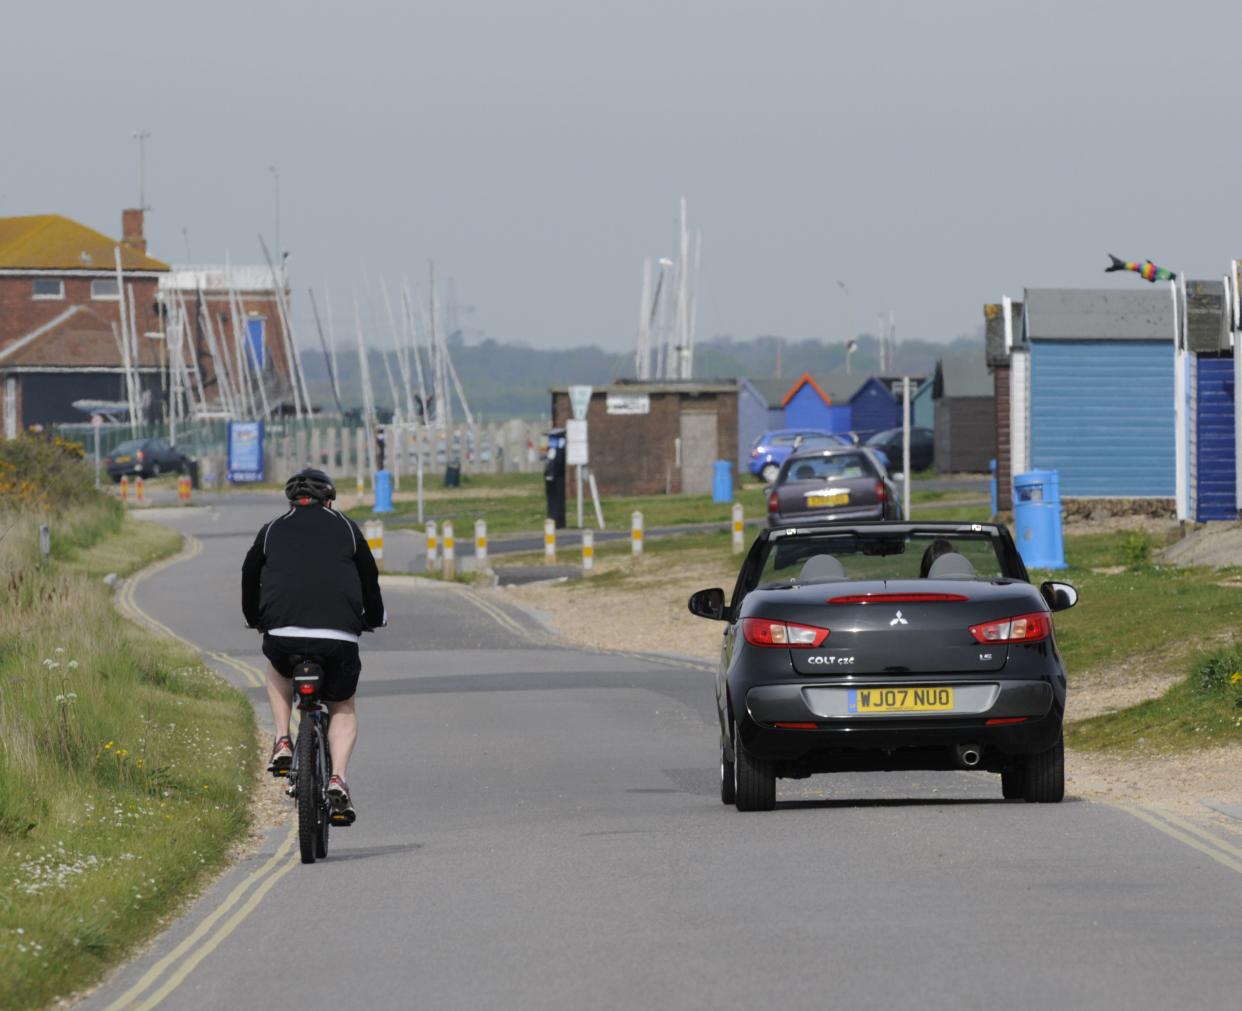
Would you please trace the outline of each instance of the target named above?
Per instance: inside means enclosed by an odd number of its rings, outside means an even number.
[[[256,704],[238,570],[271,514],[161,510],[195,550],[132,587]],[[273,831],[82,1007],[1237,1006],[1220,827],[1006,804],[975,773],[782,782],[740,815],[704,669],[565,648],[465,590],[385,592],[358,823],[308,867]]]

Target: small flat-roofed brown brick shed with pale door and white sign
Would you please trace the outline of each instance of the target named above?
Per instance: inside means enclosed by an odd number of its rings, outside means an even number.
[[[590,469],[604,494],[704,494],[715,461],[737,468],[738,380],[614,383],[586,412]],[[574,416],[569,388],[551,389],[554,427]]]

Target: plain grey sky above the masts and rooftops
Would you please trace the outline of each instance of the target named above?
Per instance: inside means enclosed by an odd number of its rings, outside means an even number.
[[[700,337],[950,339],[1242,256],[1240,52],[1236,0],[10,4],[0,215],[117,232],[143,127],[155,256],[258,261],[276,164],[303,312],[433,256],[471,327],[621,349],[684,191]]]

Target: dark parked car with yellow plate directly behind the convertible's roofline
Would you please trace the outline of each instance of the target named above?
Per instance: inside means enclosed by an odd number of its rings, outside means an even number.
[[[900,519],[900,498],[869,450],[810,450],[790,456],[768,492],[768,525],[826,519]]]

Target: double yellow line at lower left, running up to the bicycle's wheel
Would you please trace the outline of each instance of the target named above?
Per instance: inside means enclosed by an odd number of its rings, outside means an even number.
[[[258,869],[251,872],[245,881],[229,893],[220,905],[209,913],[176,948],[148,969],[140,980],[117,997],[104,1011],[148,1011],[155,1007],[178,986],[207,955],[220,946],[246,917],[248,917],[272,887],[289,871],[297,867],[291,850],[296,831],[289,830],[284,841]],[[240,904],[238,904],[240,903]],[[230,909],[237,907],[232,915],[225,919]],[[221,923],[221,920],[224,920]],[[170,971],[171,970],[171,971]],[[164,977],[166,975],[166,977]],[[163,982],[160,982],[160,979]],[[156,986],[156,984],[159,984]],[[155,986],[154,990],[152,987]],[[149,991],[149,992],[148,992]]]

